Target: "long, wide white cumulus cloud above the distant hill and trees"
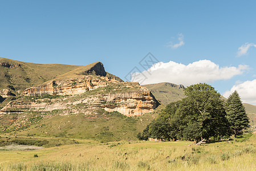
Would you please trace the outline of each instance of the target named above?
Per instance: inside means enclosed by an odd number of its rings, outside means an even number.
[[[235,75],[243,74],[248,69],[246,65],[238,67],[220,67],[210,60],[199,60],[188,65],[170,61],[159,62],[148,70],[132,75],[134,82],[152,84],[170,82],[190,86],[197,83],[210,83],[216,80],[230,79]]]

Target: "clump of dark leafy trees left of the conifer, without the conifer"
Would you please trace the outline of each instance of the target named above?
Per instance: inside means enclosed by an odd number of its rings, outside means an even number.
[[[228,124],[220,93],[200,83],[186,88],[185,95],[181,101],[168,104],[151,123],[151,136],[199,141],[227,135]]]

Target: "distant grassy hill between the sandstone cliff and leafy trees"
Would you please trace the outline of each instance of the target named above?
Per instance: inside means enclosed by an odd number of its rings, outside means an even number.
[[[169,104],[170,102],[181,100],[185,97],[183,88],[180,85],[172,83],[146,84],[152,94],[160,101],[161,104]]]

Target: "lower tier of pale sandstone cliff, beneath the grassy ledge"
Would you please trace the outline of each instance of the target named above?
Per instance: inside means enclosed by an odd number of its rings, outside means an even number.
[[[77,100],[52,99],[36,101],[17,101],[7,104],[2,112],[50,112],[63,110],[62,115],[77,113],[90,114],[94,109],[103,108],[105,111],[117,111],[126,116],[140,116],[152,112],[158,105],[155,97],[149,91],[136,91],[125,93],[109,93],[107,95],[89,96]],[[79,107],[78,107],[79,105]],[[86,108],[84,108],[86,106]]]

